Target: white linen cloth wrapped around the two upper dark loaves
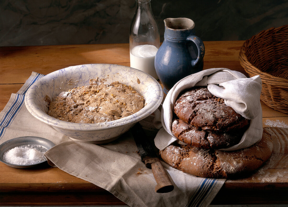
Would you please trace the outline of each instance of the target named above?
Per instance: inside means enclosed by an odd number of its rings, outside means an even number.
[[[238,150],[257,143],[262,138],[262,108],[260,93],[262,81],[259,75],[247,78],[238,71],[227,68],[211,68],[187,76],[178,81],[168,92],[160,112],[156,112],[155,125],[160,128],[154,142],[163,150],[171,143],[178,141],[171,130],[173,108],[181,91],[194,86],[207,86],[215,96],[223,98],[226,105],[237,113],[251,119],[249,128],[244,132],[237,145],[221,150]],[[184,143],[183,143],[184,144]]]

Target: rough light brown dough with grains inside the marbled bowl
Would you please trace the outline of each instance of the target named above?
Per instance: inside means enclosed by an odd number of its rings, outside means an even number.
[[[89,86],[61,92],[50,102],[48,115],[75,123],[113,121],[136,113],[145,100],[131,86],[118,81],[111,84],[91,79]]]

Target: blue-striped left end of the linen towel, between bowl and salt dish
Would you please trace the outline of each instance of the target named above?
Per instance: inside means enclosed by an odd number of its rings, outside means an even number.
[[[11,94],[10,100],[0,112],[0,144],[20,136],[40,136],[55,144],[70,140],[50,126],[38,121],[26,109],[24,103],[28,88],[44,75],[32,72],[16,94]]]

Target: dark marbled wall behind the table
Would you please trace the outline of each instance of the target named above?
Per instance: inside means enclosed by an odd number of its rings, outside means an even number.
[[[151,0],[165,18],[187,17],[203,41],[245,40],[288,24],[288,0]],[[128,43],[135,0],[1,0],[0,46]]]

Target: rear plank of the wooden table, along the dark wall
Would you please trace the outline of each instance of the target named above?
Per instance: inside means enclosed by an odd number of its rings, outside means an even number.
[[[244,71],[238,60],[242,44],[243,41],[204,42],[204,69],[224,67]],[[0,47],[0,61],[0,83],[24,83],[32,71],[47,75],[90,63],[130,66],[130,55],[129,44]]]

